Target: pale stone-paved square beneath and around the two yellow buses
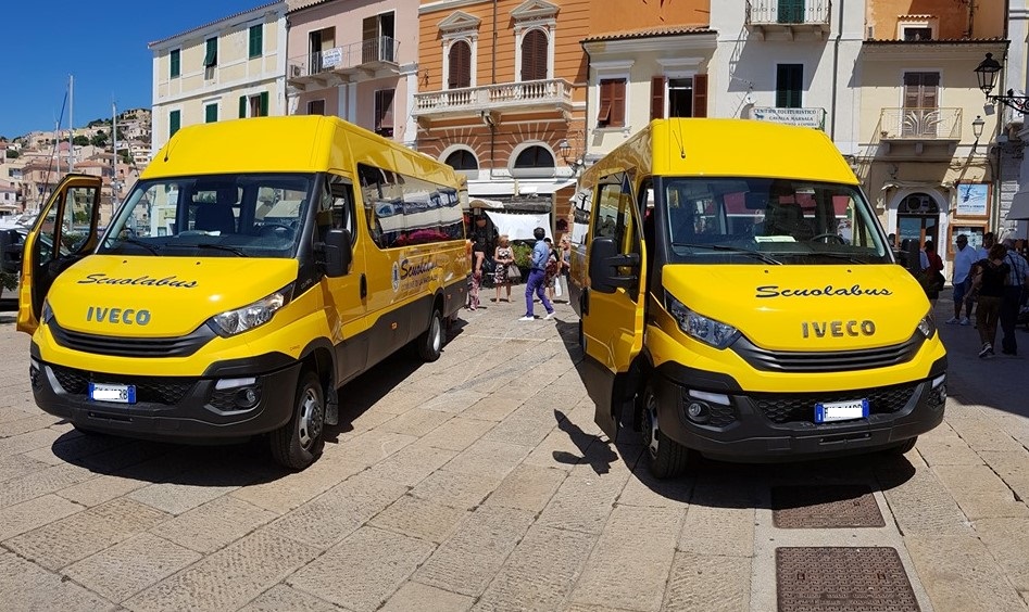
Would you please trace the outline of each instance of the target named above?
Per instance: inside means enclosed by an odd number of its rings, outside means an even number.
[[[570,307],[519,302],[347,385],[301,473],[80,435],[34,405],[0,313],[0,609],[1027,609],[1027,361],[978,359],[974,328],[940,326],[946,420],[903,457],[655,482],[593,424]]]

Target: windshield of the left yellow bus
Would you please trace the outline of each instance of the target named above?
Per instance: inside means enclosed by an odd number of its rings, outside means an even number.
[[[234,174],[139,181],[97,252],[293,257],[314,178]]]

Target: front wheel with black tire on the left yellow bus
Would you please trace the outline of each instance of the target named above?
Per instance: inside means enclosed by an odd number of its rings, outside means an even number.
[[[268,436],[272,457],[290,470],[303,470],[325,447],[325,393],[322,381],[304,370],[297,382],[297,398],[289,422]]]

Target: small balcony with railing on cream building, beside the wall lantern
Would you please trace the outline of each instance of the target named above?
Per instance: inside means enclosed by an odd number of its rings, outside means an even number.
[[[879,141],[883,153],[923,155],[933,148],[953,155],[962,139],[962,109],[882,109]]]

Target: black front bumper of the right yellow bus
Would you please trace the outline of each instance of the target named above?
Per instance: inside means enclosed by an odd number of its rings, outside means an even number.
[[[940,424],[946,358],[926,379],[846,392],[750,393],[724,374],[675,364],[658,367],[653,384],[661,430],[679,444],[726,461],[803,460],[895,446]],[[701,415],[691,418],[698,396]],[[867,419],[815,422],[816,403],[862,398]]]

